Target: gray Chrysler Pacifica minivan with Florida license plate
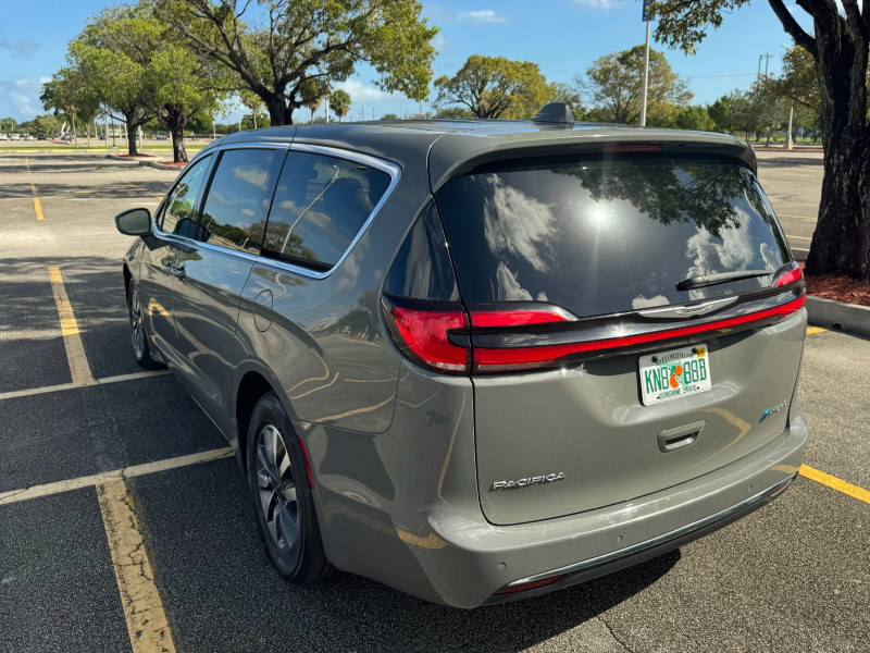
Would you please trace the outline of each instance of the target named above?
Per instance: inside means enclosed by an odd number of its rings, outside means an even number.
[[[546,109],[233,134],[116,217],[136,357],[232,443],[287,579],[475,607],[794,480],[805,285],[751,149]]]

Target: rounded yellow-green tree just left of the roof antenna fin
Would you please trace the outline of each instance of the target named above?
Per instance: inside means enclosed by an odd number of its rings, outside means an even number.
[[[531,61],[472,54],[453,75],[435,79],[435,104],[460,104],[477,118],[529,118],[556,93]]]

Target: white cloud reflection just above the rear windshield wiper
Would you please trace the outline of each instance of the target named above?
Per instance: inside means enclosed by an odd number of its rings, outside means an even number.
[[[734,226],[721,230],[718,238],[701,229],[688,239],[686,257],[692,259],[692,267],[686,278],[749,269],[755,252],[745,225],[750,219],[742,209],[734,207]]]

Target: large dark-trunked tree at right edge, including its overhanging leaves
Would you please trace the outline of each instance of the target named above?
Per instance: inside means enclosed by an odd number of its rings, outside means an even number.
[[[694,52],[706,30],[721,25],[723,14],[749,0],[659,0],[656,38]],[[808,34],[785,7],[768,0],[795,44],[816,66],[824,176],[807,274],[837,273],[870,281],[870,124],[868,123],[868,54],[870,2],[798,0],[810,15]]]

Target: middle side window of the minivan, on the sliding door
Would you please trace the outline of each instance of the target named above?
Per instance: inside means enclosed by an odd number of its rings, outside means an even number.
[[[202,205],[200,239],[260,252],[274,187],[276,156],[276,150],[270,149],[224,151]]]

